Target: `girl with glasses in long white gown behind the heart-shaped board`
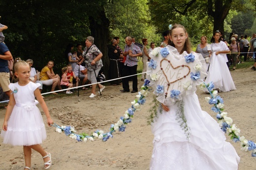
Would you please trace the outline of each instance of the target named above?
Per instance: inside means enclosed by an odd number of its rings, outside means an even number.
[[[187,57],[190,53],[198,58],[191,50],[188,33],[182,25],[175,24],[170,29],[170,40],[171,46],[168,45],[166,49],[171,56],[175,55],[174,58]],[[150,57],[154,58],[152,55],[150,54]],[[155,58],[159,57],[160,54]],[[157,65],[160,66],[160,63]],[[203,76],[200,79],[203,79]],[[201,110],[195,90],[196,88],[189,94],[182,95],[184,103],[182,108],[190,132],[189,139],[179,120],[176,120],[176,112],[181,107],[177,106],[176,102],[170,100],[166,102],[166,98],[164,102],[160,101],[164,103],[161,104],[162,112],[158,113],[152,124],[154,148],[150,170],[238,169],[240,158],[234,147],[229,142],[225,142],[224,132],[217,121]]]

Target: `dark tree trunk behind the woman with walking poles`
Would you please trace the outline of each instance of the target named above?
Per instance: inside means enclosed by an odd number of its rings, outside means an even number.
[[[109,73],[109,58],[107,44],[110,42],[110,31],[109,31],[109,20],[105,15],[104,8],[102,7],[100,11],[97,11],[98,16],[89,16],[90,30],[94,37],[94,44],[101,51],[103,57],[103,70],[106,79],[108,79]]]

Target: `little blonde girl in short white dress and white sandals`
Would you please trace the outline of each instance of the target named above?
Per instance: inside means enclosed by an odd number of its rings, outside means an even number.
[[[42,155],[44,168],[48,169],[52,165],[51,154],[40,145],[46,139],[46,130],[41,113],[35,105],[38,102],[40,103],[49,126],[53,124],[53,120],[38,89],[40,84],[32,83],[29,80],[29,64],[19,60],[15,63],[14,70],[19,81],[9,85],[11,90],[10,101],[1,131],[3,143],[23,146],[26,164],[24,170],[30,170],[31,168],[32,149]]]

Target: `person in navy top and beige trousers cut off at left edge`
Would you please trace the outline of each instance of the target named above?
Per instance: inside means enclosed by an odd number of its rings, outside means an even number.
[[[1,42],[0,43],[0,86],[3,92],[10,97],[10,71],[8,68],[8,60],[12,60],[11,52],[8,47]]]

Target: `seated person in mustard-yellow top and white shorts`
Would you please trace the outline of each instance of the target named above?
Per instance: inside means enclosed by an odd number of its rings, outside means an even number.
[[[54,91],[57,85],[61,90],[62,89],[60,85],[61,78],[58,74],[54,73],[53,66],[54,66],[54,62],[50,60],[40,72],[40,81],[42,82],[43,85],[52,85],[51,91]],[[57,94],[57,93],[54,92],[52,94]]]

